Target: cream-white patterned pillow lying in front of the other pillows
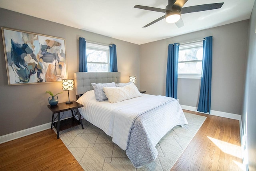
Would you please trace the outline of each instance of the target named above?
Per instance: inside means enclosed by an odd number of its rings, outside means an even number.
[[[110,103],[117,103],[134,97],[142,96],[134,83],[124,87],[103,87]]]

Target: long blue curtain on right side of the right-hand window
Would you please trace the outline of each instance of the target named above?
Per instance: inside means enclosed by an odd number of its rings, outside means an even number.
[[[205,38],[203,48],[201,87],[197,110],[210,113],[212,89],[212,36]]]

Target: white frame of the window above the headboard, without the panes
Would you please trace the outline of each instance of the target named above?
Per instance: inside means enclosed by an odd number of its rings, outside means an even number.
[[[107,72],[110,72],[109,46],[103,46],[103,45],[100,45],[100,44],[94,44],[94,43],[87,43],[86,42],[86,58],[87,58],[87,50],[98,50],[98,51],[106,52],[107,62],[88,62],[87,61],[87,64],[108,64],[108,71]],[[103,72],[103,71],[100,71],[100,72]]]

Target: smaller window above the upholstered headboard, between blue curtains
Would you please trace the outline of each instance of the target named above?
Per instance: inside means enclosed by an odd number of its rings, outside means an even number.
[[[88,72],[109,72],[109,47],[86,43]]]

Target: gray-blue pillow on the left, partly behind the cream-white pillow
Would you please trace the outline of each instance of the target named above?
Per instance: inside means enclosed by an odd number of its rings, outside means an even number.
[[[103,91],[103,87],[116,87],[115,83],[92,83],[93,89],[94,89],[94,94],[96,97],[97,101],[104,101],[107,100],[108,97],[105,95],[104,91]]]

